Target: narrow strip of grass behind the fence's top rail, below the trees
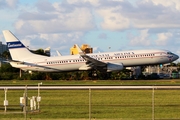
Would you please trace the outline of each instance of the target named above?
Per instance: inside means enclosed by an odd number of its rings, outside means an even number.
[[[180,85],[180,79],[162,80],[1,80],[0,85]]]

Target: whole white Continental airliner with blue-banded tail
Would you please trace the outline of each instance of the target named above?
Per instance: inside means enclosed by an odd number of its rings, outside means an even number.
[[[62,72],[99,70],[112,72],[124,67],[171,63],[179,58],[168,50],[131,50],[47,57],[30,52],[9,30],[3,31],[13,67],[25,71]]]

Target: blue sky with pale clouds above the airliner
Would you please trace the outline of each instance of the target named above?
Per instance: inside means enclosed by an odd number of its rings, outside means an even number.
[[[52,55],[68,55],[74,44],[180,55],[180,0],[0,0],[0,14],[0,31],[31,49],[51,47]]]

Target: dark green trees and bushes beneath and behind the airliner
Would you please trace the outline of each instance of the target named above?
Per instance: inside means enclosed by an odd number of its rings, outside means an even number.
[[[179,63],[174,64],[179,68]],[[174,71],[177,72],[177,71]],[[13,68],[10,64],[2,64],[0,67],[0,80],[121,80],[121,79],[133,79],[130,76],[130,70],[124,69],[122,71],[112,72],[108,77],[104,74],[97,72],[93,75],[91,71],[74,71],[74,72],[59,72],[59,73],[44,73],[44,72],[32,72],[21,71],[20,69]],[[142,74],[139,79],[146,79]],[[148,78],[149,79],[149,78]]]

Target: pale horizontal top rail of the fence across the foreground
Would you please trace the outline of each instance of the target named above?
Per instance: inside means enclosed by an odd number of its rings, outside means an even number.
[[[26,86],[0,86],[1,90],[8,89],[8,90],[24,90],[26,89]],[[106,90],[106,89],[180,89],[180,86],[28,86],[28,90],[88,90],[88,89],[100,89],[100,90]]]

